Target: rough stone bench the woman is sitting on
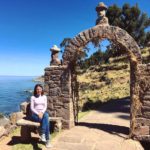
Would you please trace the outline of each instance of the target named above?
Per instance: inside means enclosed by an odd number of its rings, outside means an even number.
[[[23,102],[20,105],[20,109],[22,112],[22,117],[16,120],[16,125],[21,126],[21,139],[22,141],[29,141],[31,138],[31,132],[39,133],[39,122],[34,122],[29,120],[28,116],[31,115],[30,112],[30,103]],[[62,129],[62,118],[61,117],[49,117],[50,128],[53,128],[54,132],[60,132]]]

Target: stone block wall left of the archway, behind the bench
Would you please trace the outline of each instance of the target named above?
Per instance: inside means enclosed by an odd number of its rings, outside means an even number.
[[[74,126],[71,100],[71,73],[67,66],[45,68],[44,90],[48,99],[48,112],[52,117],[63,118],[63,128]]]

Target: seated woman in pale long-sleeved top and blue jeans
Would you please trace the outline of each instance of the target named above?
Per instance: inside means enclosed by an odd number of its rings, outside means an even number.
[[[47,96],[44,95],[43,86],[36,84],[34,87],[34,95],[30,98],[30,109],[32,112],[31,120],[40,122],[41,141],[46,143],[46,147],[52,147],[50,144],[50,131],[49,131],[49,114],[47,110]]]

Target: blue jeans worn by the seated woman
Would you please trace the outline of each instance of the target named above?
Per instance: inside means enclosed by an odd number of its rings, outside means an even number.
[[[40,119],[37,114],[32,113],[31,120],[35,121],[35,122],[40,122],[41,132],[42,132],[42,134],[45,134],[46,140],[49,140],[50,139],[50,135],[49,135],[49,133],[50,133],[50,131],[49,131],[50,124],[49,124],[49,114],[48,114],[48,112],[45,112],[43,114],[42,119]]]

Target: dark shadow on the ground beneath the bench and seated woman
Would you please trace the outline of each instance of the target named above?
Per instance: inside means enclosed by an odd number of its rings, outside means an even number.
[[[40,148],[38,144],[43,144],[43,143],[39,142],[39,138],[36,137],[32,137],[30,141],[22,142],[20,136],[13,136],[11,141],[7,143],[7,145],[10,146],[15,146],[17,144],[23,144],[23,145],[31,144],[33,146],[33,150],[42,150],[42,148]]]

